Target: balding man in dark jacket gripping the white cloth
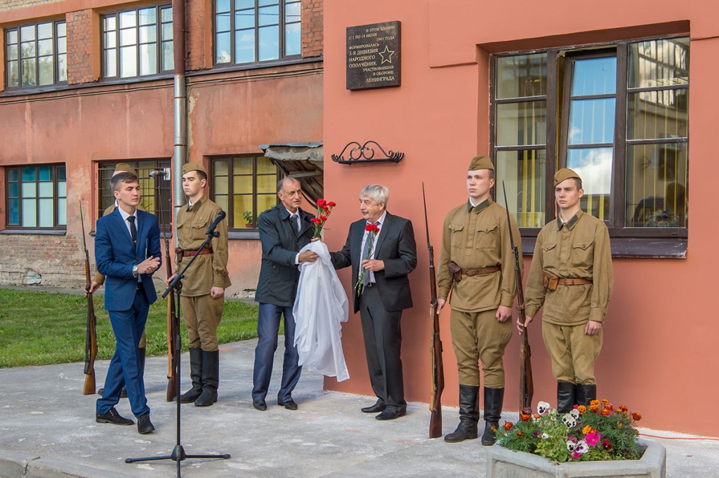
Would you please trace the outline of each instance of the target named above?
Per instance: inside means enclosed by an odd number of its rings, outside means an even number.
[[[300,278],[298,265],[301,262],[314,262],[318,257],[311,251],[299,253],[299,250],[311,241],[314,231],[310,221],[313,216],[300,208],[300,183],[293,178],[283,178],[277,189],[281,203],[263,212],[257,219],[262,242],[260,281],[255,293],[255,300],[260,303],[260,313],[257,320],[255,369],[252,373],[252,406],[257,410],[267,410],[265,396],[270,387],[280,319],[283,316],[285,359],[277,404],[288,410],[297,410],[292,390],[300,380],[302,367],[298,365],[292,308]]]

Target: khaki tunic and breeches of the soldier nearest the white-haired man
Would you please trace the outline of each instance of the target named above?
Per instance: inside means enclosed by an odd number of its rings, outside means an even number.
[[[521,236],[513,217],[510,227],[521,257]],[[456,262],[462,270],[491,266],[500,266],[501,270],[463,275],[453,285],[449,261]],[[439,298],[446,300],[452,293],[449,322],[461,385],[480,385],[477,362],[481,361],[485,387],[504,387],[502,357],[512,337],[513,323],[499,322],[495,314],[500,305],[513,305],[514,265],[505,208],[487,198],[476,207],[467,202],[449,211],[442,232],[437,284]]]

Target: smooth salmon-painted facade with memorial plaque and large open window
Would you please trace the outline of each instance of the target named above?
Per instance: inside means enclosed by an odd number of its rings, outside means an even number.
[[[718,70],[718,14],[715,4],[664,0],[326,4],[326,156],[367,140],[404,153],[397,164],[329,163],[325,196],[338,203],[333,224],[342,224],[359,217],[352,206],[359,189],[383,183],[390,188],[388,210],[413,221],[420,258],[410,275],[415,307],[402,319],[408,400],[427,402],[431,392],[422,183],[437,250],[446,212],[467,201],[470,159],[488,154],[495,160],[495,198],[504,204],[504,183],[521,229],[525,270],[536,234],[555,216],[551,180],[559,167],[582,175],[582,208],[610,230],[615,279],[597,361],[598,395],[639,411],[641,426],[717,435],[718,420],[700,410],[703,390],[716,388],[707,370],[719,367],[710,332],[719,259],[707,213],[719,173],[710,86]],[[397,21],[401,86],[347,89],[354,61],[348,29]],[[370,54],[377,48],[365,46],[361,51]],[[342,247],[345,232],[328,232],[331,250]],[[449,311],[442,312],[441,327],[443,403],[456,404]],[[539,316],[528,333],[533,405],[554,403]],[[359,323],[350,320],[343,338],[354,334]],[[504,360],[507,410],[519,408],[513,399],[518,349],[516,336]],[[361,344],[346,341],[344,351],[352,378],[364,377]],[[326,385],[369,393],[362,380]]]

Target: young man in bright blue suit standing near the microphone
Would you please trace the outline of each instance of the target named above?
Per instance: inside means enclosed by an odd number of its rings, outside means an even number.
[[[95,420],[114,425],[134,423],[115,410],[125,385],[137,417],[137,431],[152,433],[155,427],[145,397],[138,345],[147,311],[157,300],[152,274],[160,267],[160,228],[155,216],[137,208],[140,190],[136,175],[115,175],[110,185],[118,207],[97,221],[95,260],[98,271],[106,276],[105,309],[117,343],[103,396],[97,400]]]

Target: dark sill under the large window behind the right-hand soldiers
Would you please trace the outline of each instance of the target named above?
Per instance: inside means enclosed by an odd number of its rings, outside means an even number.
[[[651,259],[686,259],[687,238],[613,237],[610,239],[612,257]],[[536,237],[522,238],[522,255],[531,256]]]

